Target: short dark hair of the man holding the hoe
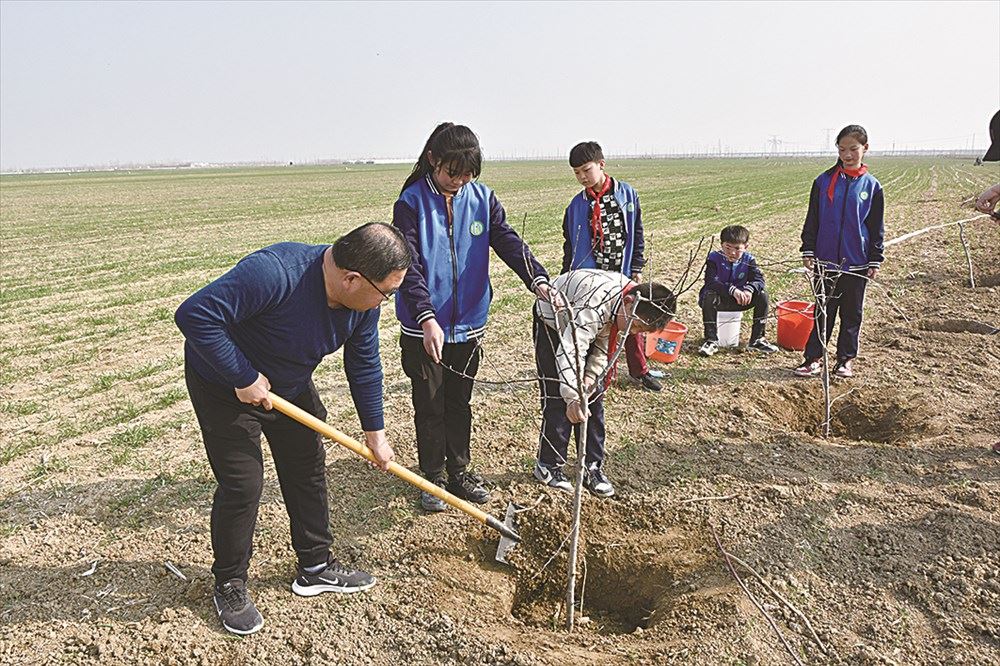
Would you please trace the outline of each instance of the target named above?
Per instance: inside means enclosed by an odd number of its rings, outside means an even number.
[[[390,273],[408,269],[413,257],[399,229],[369,222],[337,239],[333,263],[345,271],[357,271],[372,282],[381,282]]]

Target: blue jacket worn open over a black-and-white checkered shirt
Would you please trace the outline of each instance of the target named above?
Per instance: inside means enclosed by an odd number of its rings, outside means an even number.
[[[646,263],[642,256],[645,250],[645,241],[642,237],[642,210],[639,208],[639,195],[631,185],[617,179],[614,183],[615,199],[625,215],[625,254],[622,257],[622,273],[630,276],[641,271]],[[581,190],[569,202],[563,215],[563,273],[578,268],[597,268],[594,262],[594,239],[590,230],[591,214],[587,192]]]

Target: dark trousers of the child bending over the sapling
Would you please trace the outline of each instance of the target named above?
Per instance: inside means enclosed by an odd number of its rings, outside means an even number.
[[[542,400],[542,432],[538,438],[538,462],[546,467],[562,467],[572,429],[574,441],[580,441],[580,425],[566,418],[566,402],[559,393],[559,371],[555,351],[559,349],[559,334],[545,325],[534,313],[532,330],[535,338],[535,366]],[[588,356],[593,347],[588,350]],[[572,354],[571,354],[572,355]],[[575,387],[574,387],[575,388]],[[604,462],[604,393],[590,402],[587,419],[587,465],[598,467]]]

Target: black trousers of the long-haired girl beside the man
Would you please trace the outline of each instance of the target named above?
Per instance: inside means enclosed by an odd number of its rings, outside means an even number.
[[[448,477],[454,479],[465,471],[471,458],[469,402],[475,381],[468,377],[475,377],[479,371],[479,343],[445,343],[440,364],[427,355],[423,338],[401,335],[399,346],[403,372],[410,378],[420,471],[428,479],[438,479],[447,468]]]

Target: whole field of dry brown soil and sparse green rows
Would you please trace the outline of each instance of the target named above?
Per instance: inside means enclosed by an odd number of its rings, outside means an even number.
[[[701,236],[741,223],[774,303],[807,290],[787,269],[825,166],[612,160],[609,171],[642,199],[647,275],[676,279]],[[1000,180],[996,165],[960,161],[871,166],[888,238],[972,216],[962,201]],[[692,326],[662,368],[662,394],[620,380],[607,401],[618,496],[585,498],[586,620],[572,634],[559,548],[570,498],[529,476],[535,387],[503,383],[534,376],[531,298],[494,262],[480,377],[500,383],[475,393],[473,458],[496,488],[490,511],[534,505],[513,566],[492,561],[493,534],[455,512],[425,515],[414,490],[333,445],[335,554],[380,584],[350,598],[289,591],[294,558],[269,466],[250,570],[266,625],[245,639],[222,631],[210,594],[214,482],[174,309],[258,247],[387,220],[405,170],[0,179],[0,662],[791,663],[714,530],[801,611],[739,569],[803,663],[1000,663],[1000,456],[989,450],[1000,440],[1000,225],[987,221],[967,229],[975,289],[955,227],[891,248],[869,291],[858,376],[834,386],[828,439],[820,384],[789,372],[797,353],[702,359]],[[526,239],[558,270],[576,191],[568,166],[488,164],[482,178],[517,228],[527,215]],[[689,325],[694,296],[679,308]],[[382,321],[389,436],[415,468],[391,309]],[[339,357],[317,385],[330,422],[359,434]]]

